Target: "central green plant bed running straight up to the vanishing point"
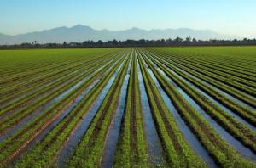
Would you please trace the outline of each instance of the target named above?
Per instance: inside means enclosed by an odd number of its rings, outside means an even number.
[[[133,54],[131,75],[125,100],[125,113],[113,167],[148,167],[148,151],[137,76],[137,56]]]

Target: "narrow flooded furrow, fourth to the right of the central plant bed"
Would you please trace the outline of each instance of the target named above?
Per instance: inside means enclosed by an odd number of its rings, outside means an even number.
[[[154,59],[155,61],[157,61],[158,63],[160,63],[158,60]],[[161,63],[160,63],[161,64]],[[250,129],[252,129],[254,132],[256,132],[256,127],[253,126],[252,124],[248,123],[247,120],[242,119],[239,115],[236,115],[236,113],[234,113],[233,111],[231,111],[230,109],[228,109],[227,107],[225,107],[223,104],[220,104],[218,102],[218,100],[215,100],[214,98],[212,98],[210,95],[208,95],[206,92],[202,91],[201,88],[196,87],[193,83],[191,83],[190,81],[186,80],[185,78],[183,78],[183,76],[178,75],[175,71],[171,70],[169,67],[167,67],[165,64],[162,64],[166,70],[169,70],[174,76],[177,76],[180,80],[185,81],[189,84],[190,87],[195,88],[196,91],[200,92],[203,96],[205,96],[206,98],[208,98],[210,101],[212,101],[212,103],[217,104],[218,107],[220,109],[223,109],[226,113],[228,113],[229,115],[231,115],[232,117],[234,117],[236,120],[240,121],[242,124],[244,124],[245,126],[249,127]],[[160,70],[160,69],[159,69]],[[160,70],[162,71],[162,70]],[[161,72],[163,73],[163,72]]]

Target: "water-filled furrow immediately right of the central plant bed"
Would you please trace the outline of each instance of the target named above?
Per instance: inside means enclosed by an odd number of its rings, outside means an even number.
[[[144,129],[146,133],[147,146],[148,146],[148,155],[149,155],[148,160],[154,167],[167,165],[165,160],[165,154],[160,143],[160,138],[158,137],[157,131],[154,126],[154,120],[153,120],[153,116],[152,116],[151,109],[148,102],[148,95],[146,92],[146,88],[144,86],[143,74],[141,72],[140,64],[138,64],[138,60],[137,60],[137,73],[138,73],[138,80],[139,80],[141,103],[143,107]]]

